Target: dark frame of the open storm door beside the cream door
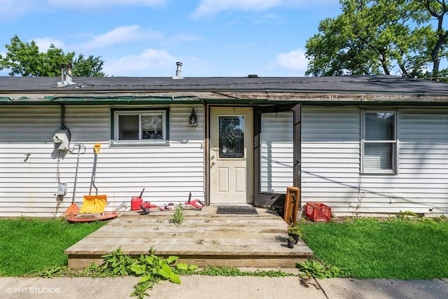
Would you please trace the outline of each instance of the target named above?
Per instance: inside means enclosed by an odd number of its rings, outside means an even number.
[[[253,111],[253,204],[255,207],[283,207],[286,194],[260,192],[260,133],[262,113],[293,112],[293,185],[301,187],[302,105],[256,106]],[[286,190],[285,190],[286,193]]]

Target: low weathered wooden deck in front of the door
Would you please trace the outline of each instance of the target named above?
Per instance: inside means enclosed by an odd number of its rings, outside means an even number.
[[[179,256],[183,263],[199,266],[294,267],[313,254],[301,241],[289,249],[286,223],[266,209],[253,215],[216,214],[216,207],[186,210],[181,225],[169,222],[172,214],[127,211],[66,249],[69,267],[100,264],[102,255],[119,246],[131,255],[147,253],[154,246],[158,255]]]

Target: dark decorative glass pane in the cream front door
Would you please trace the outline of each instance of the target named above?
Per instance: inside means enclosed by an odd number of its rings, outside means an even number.
[[[219,157],[244,157],[244,116],[219,116]]]

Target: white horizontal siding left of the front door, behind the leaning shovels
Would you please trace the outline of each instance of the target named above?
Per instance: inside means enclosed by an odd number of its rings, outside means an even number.
[[[192,106],[164,107],[170,110],[169,146],[111,147],[111,107],[66,106],[70,148],[87,148],[79,159],[77,204],[89,193],[96,143],[102,147],[95,185],[107,195],[106,211],[121,202],[130,206],[143,188],[144,200],[155,204],[185,202],[189,192],[204,200],[204,109],[195,106],[198,126],[189,127]],[[0,106],[0,216],[59,216],[71,204],[76,153],[55,149],[59,122],[59,106]],[[31,153],[27,159],[25,153]],[[58,178],[67,194],[57,209]]]

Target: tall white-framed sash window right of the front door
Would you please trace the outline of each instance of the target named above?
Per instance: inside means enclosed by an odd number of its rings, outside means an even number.
[[[363,111],[361,173],[398,173],[396,111]]]

